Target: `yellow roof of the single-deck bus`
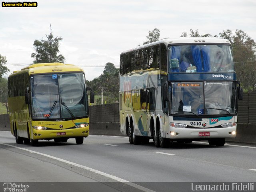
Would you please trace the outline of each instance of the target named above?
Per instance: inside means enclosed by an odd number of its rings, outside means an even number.
[[[28,72],[29,74],[39,74],[39,73],[52,73],[52,72],[69,72],[69,71],[83,71],[82,68],[64,63],[37,63],[31,64],[27,67],[22,68],[20,71],[14,71],[10,76]]]

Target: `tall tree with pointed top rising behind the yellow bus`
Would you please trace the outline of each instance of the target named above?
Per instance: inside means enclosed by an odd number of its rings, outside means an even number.
[[[50,35],[46,35],[47,40],[42,38],[41,41],[34,41],[34,50],[36,53],[32,53],[31,57],[35,60],[34,63],[51,63],[51,62],[65,62],[65,58],[62,54],[58,54],[59,52],[59,42],[62,41],[61,37],[54,38],[52,34],[52,26],[50,27]]]

